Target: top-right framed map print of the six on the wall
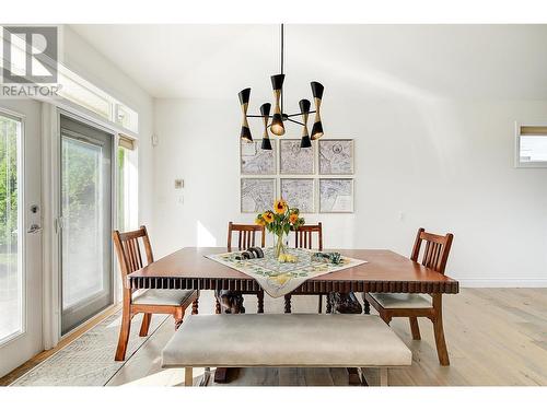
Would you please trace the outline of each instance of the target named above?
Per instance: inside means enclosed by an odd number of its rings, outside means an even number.
[[[319,174],[353,174],[353,140],[319,140]]]

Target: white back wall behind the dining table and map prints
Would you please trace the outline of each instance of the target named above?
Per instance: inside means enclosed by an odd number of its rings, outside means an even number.
[[[325,138],[356,140],[356,212],[306,218],[325,246],[409,255],[423,226],[454,233],[447,273],[464,284],[547,283],[547,168],[513,167],[514,121],[547,120],[547,102],[340,97],[324,98]],[[223,246],[228,221],[253,220],[238,212],[235,95],[156,99],[155,124],[156,253]]]

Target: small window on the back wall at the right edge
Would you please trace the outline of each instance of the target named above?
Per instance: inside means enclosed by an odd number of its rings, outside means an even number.
[[[547,126],[519,126],[515,166],[547,167]]]

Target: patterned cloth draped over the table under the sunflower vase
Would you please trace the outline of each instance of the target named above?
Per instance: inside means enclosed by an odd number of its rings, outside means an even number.
[[[264,249],[264,258],[236,259],[241,251],[207,255],[206,257],[225,265],[255,279],[271,297],[280,297],[291,293],[307,279],[338,270],[366,263],[366,260],[341,257],[340,263],[329,263],[312,260],[315,250],[289,249],[298,258],[296,262],[279,262],[274,256],[274,248]]]

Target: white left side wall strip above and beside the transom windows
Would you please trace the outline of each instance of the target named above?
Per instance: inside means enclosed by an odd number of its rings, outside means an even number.
[[[70,26],[62,27],[62,62],[139,113],[139,223],[153,232],[153,99],[139,84],[94,49]],[[137,227],[137,226],[135,226]]]

